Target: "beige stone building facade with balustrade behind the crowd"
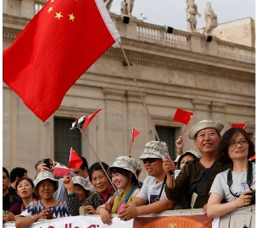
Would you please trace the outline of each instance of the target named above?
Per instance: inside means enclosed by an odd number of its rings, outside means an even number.
[[[14,41],[37,9],[31,0],[3,0],[3,49]],[[117,156],[128,154],[132,128],[140,132],[131,147],[131,156],[138,159],[144,145],[156,138],[133,76],[159,138],[170,145],[172,158],[176,156],[175,139],[186,128],[173,121],[176,108],[194,113],[184,134],[185,150],[196,150],[188,133],[192,125],[203,119],[222,122],[224,131],[231,128],[231,123],[246,122],[253,139],[253,46],[216,37],[206,42],[200,33],[181,30],[166,34],[161,26],[137,19],[123,24],[119,15],[110,15],[120,32],[131,70],[122,50],[109,48],[81,75],[46,122],[3,84],[3,166],[8,171],[25,167],[33,178],[36,161],[46,157],[68,166],[70,147],[86,157],[89,166],[97,162],[97,157],[110,166]],[[70,131],[76,117],[91,115],[98,108],[103,111],[84,134]],[[144,177],[142,171],[142,180]]]

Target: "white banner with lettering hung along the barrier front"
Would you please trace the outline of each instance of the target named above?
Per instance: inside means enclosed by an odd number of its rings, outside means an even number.
[[[111,225],[103,224],[99,216],[71,216],[54,220],[36,222],[30,228],[131,228],[133,220],[121,221],[118,217],[112,219]],[[14,228],[15,223],[5,223],[3,228]]]

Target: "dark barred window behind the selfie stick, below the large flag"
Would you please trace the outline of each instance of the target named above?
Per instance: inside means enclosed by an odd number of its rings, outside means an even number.
[[[69,166],[71,147],[81,155],[81,133],[76,128],[70,131],[74,119],[54,117],[54,160],[65,166]]]

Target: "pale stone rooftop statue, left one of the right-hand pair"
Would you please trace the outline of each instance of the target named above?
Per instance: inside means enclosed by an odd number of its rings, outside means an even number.
[[[198,6],[194,3],[194,0],[186,0],[186,29],[187,31],[193,32],[197,29],[197,15]]]

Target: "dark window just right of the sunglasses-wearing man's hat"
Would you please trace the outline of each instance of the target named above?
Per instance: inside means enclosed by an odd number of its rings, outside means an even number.
[[[170,158],[172,160],[175,160],[176,158],[175,128],[156,126],[156,130],[157,130],[157,133],[159,134],[160,140],[168,144]]]

